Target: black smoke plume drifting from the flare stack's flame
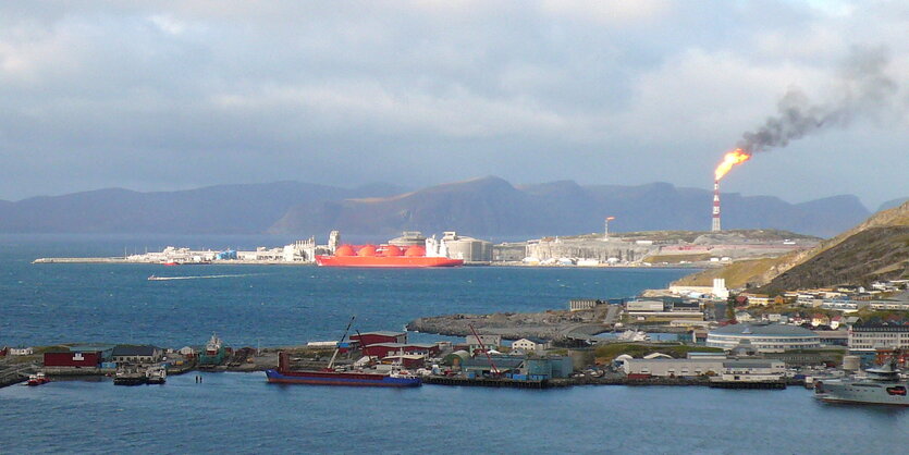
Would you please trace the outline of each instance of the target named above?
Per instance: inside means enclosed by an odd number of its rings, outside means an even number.
[[[853,48],[842,70],[839,88],[830,99],[812,103],[800,90],[789,89],[777,104],[778,113],[742,134],[738,147],[750,153],[785,147],[824,128],[848,126],[857,116],[876,116],[898,90],[884,73],[888,60],[883,47]]]

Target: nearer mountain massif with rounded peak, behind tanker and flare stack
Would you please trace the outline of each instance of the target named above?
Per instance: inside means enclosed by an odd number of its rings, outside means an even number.
[[[726,229],[782,229],[834,235],[870,213],[855,196],[789,204],[771,196],[725,194]],[[573,235],[600,232],[606,216],[618,231],[690,230],[710,226],[713,193],[668,183],[581,186],[562,181],[513,186],[488,176],[431,186],[406,195],[343,200],[291,209],[272,234],[323,232],[392,235],[405,230],[457,230],[470,235]]]

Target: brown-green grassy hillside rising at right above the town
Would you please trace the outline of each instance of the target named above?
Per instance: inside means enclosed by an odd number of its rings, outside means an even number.
[[[877,212],[814,248],[776,259],[707,270],[676,284],[710,285],[714,278],[724,278],[729,287],[749,284],[776,293],[906,275],[909,275],[909,202]]]

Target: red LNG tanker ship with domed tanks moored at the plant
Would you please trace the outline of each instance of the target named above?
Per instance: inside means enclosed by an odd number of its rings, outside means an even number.
[[[395,245],[341,245],[334,256],[316,256],[316,263],[322,267],[374,267],[374,268],[421,268],[421,267],[458,267],[463,259],[451,259],[444,256],[426,255],[426,248],[419,245],[402,249]]]

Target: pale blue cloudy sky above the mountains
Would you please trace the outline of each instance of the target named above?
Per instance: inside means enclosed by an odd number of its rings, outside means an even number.
[[[905,1],[2,2],[0,199],[484,175],[711,188],[787,94],[855,99],[850,64],[876,56],[879,99],[722,183],[874,209],[909,196],[907,30]]]

